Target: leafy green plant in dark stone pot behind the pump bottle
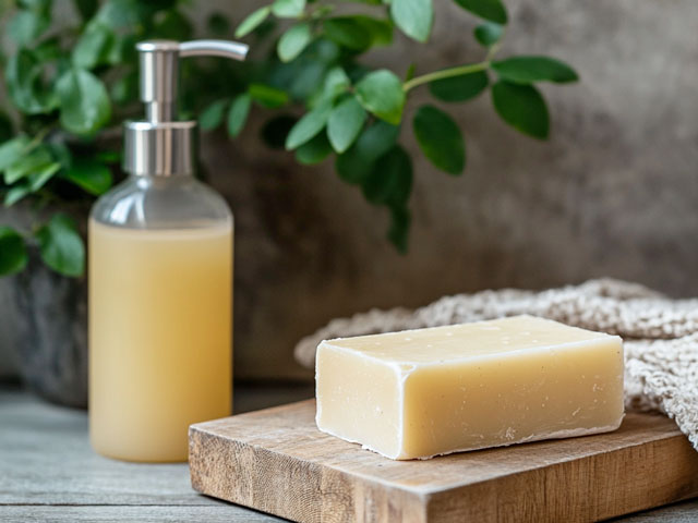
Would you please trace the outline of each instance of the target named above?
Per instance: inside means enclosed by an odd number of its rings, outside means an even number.
[[[362,61],[404,37],[425,44],[433,0],[342,1],[341,9],[326,1],[275,0],[234,31],[225,14],[212,13],[207,37],[251,38],[258,51],[241,64],[185,62],[182,112],[198,114],[204,131],[222,126],[234,138],[250,111],[260,111],[267,118],[262,139],[291,151],[301,165],[332,159],[342,181],[387,210],[387,239],[405,253],[411,155],[423,154],[450,175],[466,167],[464,133],[448,104],[488,93],[506,123],[545,139],[550,115],[535,84],[577,80],[556,59],[500,57],[508,22],[501,0],[453,1],[481,21],[472,44],[481,47],[482,59],[438,71],[420,63],[373,69]],[[72,24],[52,23],[58,5],[17,0],[5,13],[13,48],[4,58],[8,104],[0,113],[0,275],[14,275],[5,280],[16,314],[8,324],[25,378],[49,399],[84,405],[81,223],[92,200],[121,177],[121,121],[141,113],[134,44],[185,40],[193,25],[185,2],[177,0],[75,0]],[[433,102],[410,107],[422,88]],[[400,145],[409,132],[419,151]]]

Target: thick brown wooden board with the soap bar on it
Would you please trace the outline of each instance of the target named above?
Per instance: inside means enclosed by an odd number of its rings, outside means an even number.
[[[300,522],[577,522],[698,496],[671,419],[610,434],[392,461],[317,430],[314,400],[193,425],[193,487]]]

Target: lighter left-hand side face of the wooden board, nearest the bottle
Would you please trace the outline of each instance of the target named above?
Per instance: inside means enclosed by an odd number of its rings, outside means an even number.
[[[225,459],[231,447],[236,459]],[[292,521],[314,523],[332,514],[330,521],[426,523],[429,496],[301,462],[202,427],[190,428],[189,459],[194,490]]]

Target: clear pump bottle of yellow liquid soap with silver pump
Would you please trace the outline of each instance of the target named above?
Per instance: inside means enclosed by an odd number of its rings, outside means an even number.
[[[188,457],[192,423],[230,414],[232,215],[194,178],[196,122],[177,119],[179,59],[243,60],[222,40],[137,46],[146,119],[124,124],[129,178],[89,219],[89,430],[100,454]]]

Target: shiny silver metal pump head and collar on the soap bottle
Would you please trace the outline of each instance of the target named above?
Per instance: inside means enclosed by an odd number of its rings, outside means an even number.
[[[148,40],[136,45],[143,121],[125,122],[123,169],[136,175],[192,174],[196,167],[196,122],[179,121],[179,59],[244,60],[248,46],[227,40]]]

